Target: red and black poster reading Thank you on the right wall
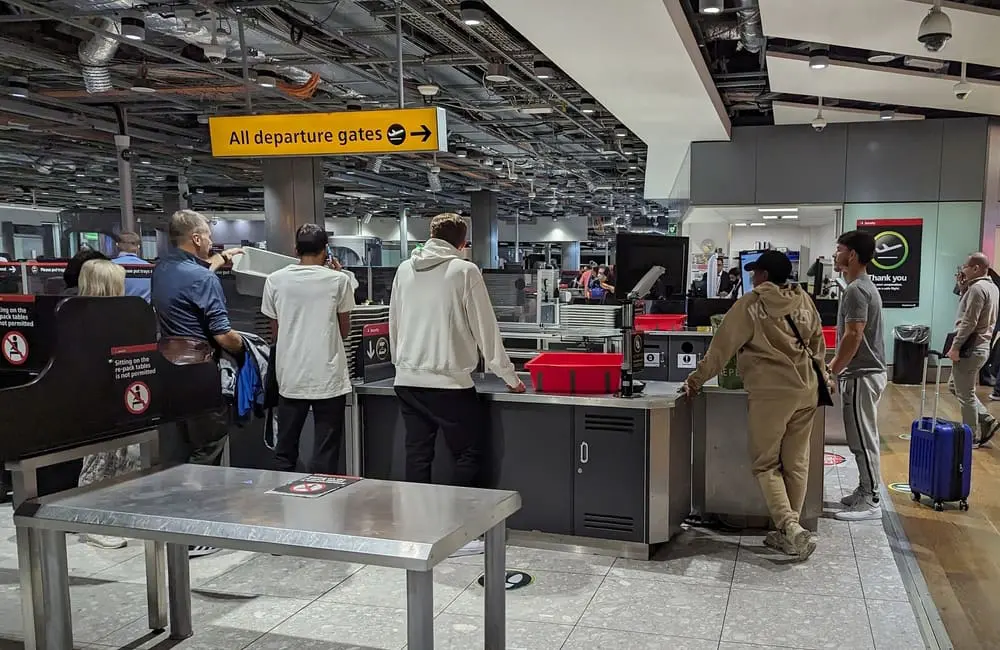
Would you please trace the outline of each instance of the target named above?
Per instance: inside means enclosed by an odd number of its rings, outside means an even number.
[[[875,236],[875,255],[868,265],[884,307],[920,304],[920,252],[923,219],[860,219],[858,230]]]

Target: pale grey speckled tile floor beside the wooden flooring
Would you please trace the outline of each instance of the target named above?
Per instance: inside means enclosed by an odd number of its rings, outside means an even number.
[[[857,480],[827,468],[828,501]],[[688,531],[653,562],[511,547],[534,583],[508,592],[507,647],[520,650],[917,650],[924,643],[880,522],[821,520],[806,563],[767,551],[760,531]],[[13,528],[0,517],[0,650],[21,634]],[[401,571],[222,552],[191,563],[192,639],[146,629],[141,546],[69,544],[75,638],[91,650],[400,650]],[[481,557],[435,571],[436,648],[482,648]],[[3,639],[9,639],[4,641]]]

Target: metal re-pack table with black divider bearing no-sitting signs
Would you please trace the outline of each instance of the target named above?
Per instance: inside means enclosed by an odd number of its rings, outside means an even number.
[[[485,647],[505,647],[505,520],[517,493],[156,467],[153,427],[221,404],[210,356],[157,341],[139,298],[4,295],[0,324],[0,454],[14,477],[27,650],[74,647],[67,533],[144,540],[149,627],[169,625],[174,639],[194,632],[189,545],[405,570],[414,650],[434,647],[434,566],[485,535]],[[39,469],[130,444],[140,445],[141,472],[39,496]]]

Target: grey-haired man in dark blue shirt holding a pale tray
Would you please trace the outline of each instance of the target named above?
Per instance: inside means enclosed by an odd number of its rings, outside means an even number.
[[[168,234],[173,248],[156,264],[152,278],[151,304],[159,320],[160,336],[207,341],[216,349],[241,354],[243,338],[229,324],[226,298],[215,271],[242,251],[233,248],[212,255],[208,220],[193,210],[174,213]],[[218,465],[228,434],[228,407],[177,422],[176,427],[161,431],[163,437],[174,437],[174,444],[165,446],[168,453],[162,454],[163,461]],[[190,549],[192,556],[214,550]]]

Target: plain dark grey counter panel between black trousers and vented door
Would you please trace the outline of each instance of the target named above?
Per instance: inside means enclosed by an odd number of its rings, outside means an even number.
[[[573,431],[568,406],[489,402],[490,485],[521,494],[514,530],[573,533]]]

